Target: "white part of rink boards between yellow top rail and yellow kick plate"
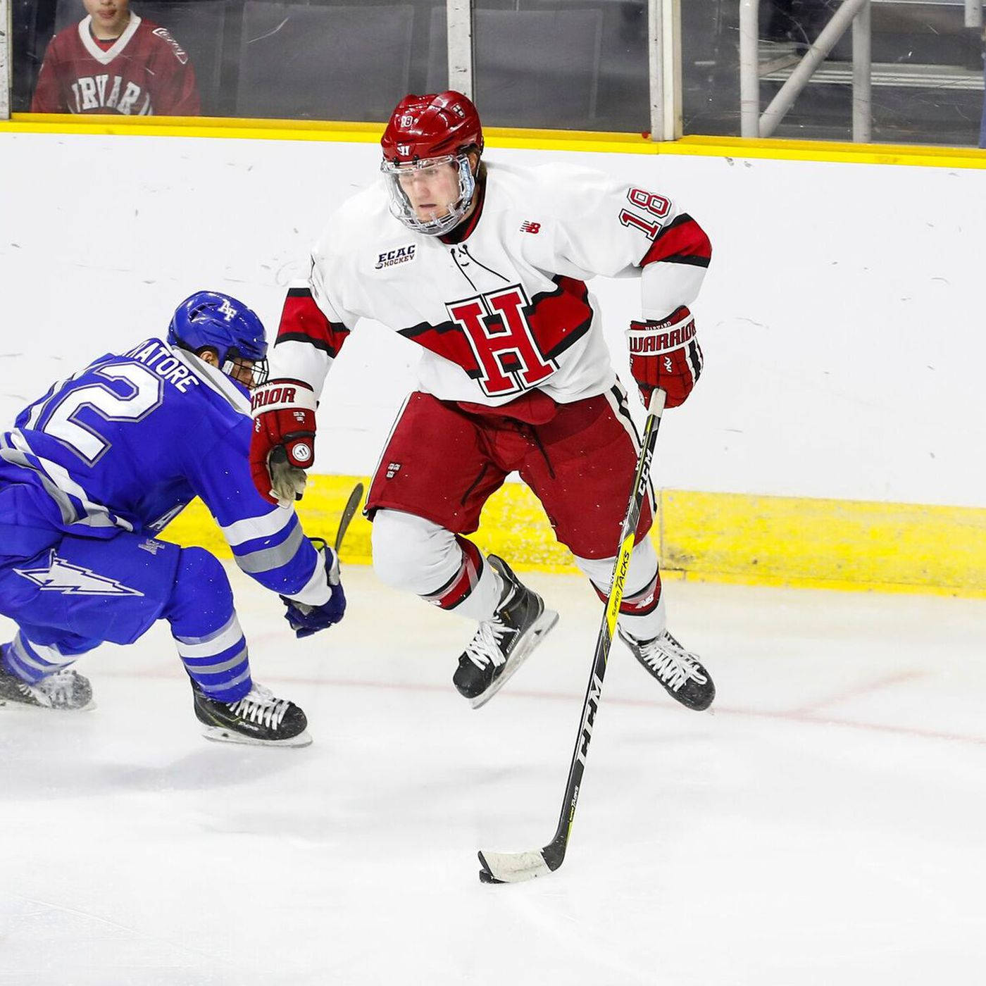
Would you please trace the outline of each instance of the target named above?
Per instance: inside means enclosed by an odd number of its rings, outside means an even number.
[[[716,254],[703,381],[669,416],[662,486],[986,506],[986,172],[684,156],[563,158],[678,199]],[[276,329],[327,213],[375,144],[0,135],[0,421],[52,379],[227,291]],[[634,281],[597,279],[616,365]],[[368,325],[319,411],[317,468],[367,473],[417,351]]]

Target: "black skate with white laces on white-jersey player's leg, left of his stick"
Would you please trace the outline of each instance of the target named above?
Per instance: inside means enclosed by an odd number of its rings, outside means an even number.
[[[545,609],[544,600],[531,592],[502,558],[490,555],[488,561],[503,579],[503,597],[493,617],[479,624],[452,678],[458,693],[473,709],[485,705],[504,686],[558,622],[558,614]]]

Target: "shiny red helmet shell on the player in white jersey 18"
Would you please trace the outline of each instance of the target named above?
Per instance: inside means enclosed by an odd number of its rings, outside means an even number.
[[[483,127],[472,101],[455,90],[412,93],[390,114],[380,143],[384,158],[394,165],[455,156],[473,146],[482,153]]]

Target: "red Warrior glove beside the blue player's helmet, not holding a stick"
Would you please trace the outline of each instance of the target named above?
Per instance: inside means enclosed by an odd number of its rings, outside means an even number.
[[[257,492],[287,506],[302,498],[305,469],[315,462],[315,391],[297,380],[272,380],[252,394],[249,467]]]

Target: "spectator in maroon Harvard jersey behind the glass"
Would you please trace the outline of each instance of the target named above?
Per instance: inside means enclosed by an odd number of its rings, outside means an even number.
[[[37,76],[35,113],[195,116],[195,72],[168,33],[130,0],[82,0],[88,16],[58,32]]]

